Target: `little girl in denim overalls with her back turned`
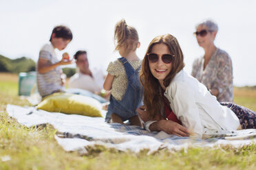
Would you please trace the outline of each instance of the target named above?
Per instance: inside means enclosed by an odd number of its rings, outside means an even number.
[[[140,47],[138,33],[122,19],[116,23],[114,39],[116,50],[122,57],[107,67],[103,88],[111,90],[111,97],[105,121],[123,123],[129,120],[131,125],[141,126],[136,112],[143,95],[138,77],[141,61],[136,55],[136,49]]]

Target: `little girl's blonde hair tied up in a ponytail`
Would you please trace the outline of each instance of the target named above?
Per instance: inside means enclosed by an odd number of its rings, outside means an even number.
[[[115,36],[114,36],[116,49],[125,47],[125,53],[135,51],[138,46],[138,32],[134,27],[127,25],[125,19],[122,19],[116,23]]]

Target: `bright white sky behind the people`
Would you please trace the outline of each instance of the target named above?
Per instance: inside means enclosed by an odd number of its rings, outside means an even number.
[[[204,55],[193,36],[195,25],[212,19],[219,27],[215,45],[233,62],[235,86],[256,85],[256,1],[253,0],[0,0],[0,54],[25,56],[35,62],[56,25],[67,25],[73,40],[64,52],[86,50],[91,68],[105,71],[119,58],[114,51],[114,26],[120,19],[138,31],[140,59],[151,40],[162,34],[175,36],[184,53],[184,70]],[[75,64],[68,65],[74,67]]]

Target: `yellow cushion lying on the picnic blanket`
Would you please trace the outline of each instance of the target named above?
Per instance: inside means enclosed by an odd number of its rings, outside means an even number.
[[[99,101],[92,97],[70,93],[54,93],[41,101],[36,107],[48,112],[63,112],[66,114],[81,114],[88,117],[103,117]]]

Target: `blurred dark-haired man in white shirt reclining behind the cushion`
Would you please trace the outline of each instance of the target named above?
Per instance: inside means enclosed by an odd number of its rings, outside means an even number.
[[[76,60],[78,73],[70,77],[68,83],[69,88],[81,88],[108,99],[109,93],[106,94],[105,91],[103,91],[105,76],[102,71],[91,71],[89,69],[87,52],[77,51],[74,55],[74,59]]]

